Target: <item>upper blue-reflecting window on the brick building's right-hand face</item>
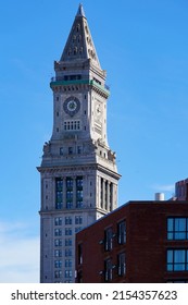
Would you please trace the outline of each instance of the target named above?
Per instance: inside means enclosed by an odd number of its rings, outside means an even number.
[[[167,240],[188,240],[188,218],[167,219]]]

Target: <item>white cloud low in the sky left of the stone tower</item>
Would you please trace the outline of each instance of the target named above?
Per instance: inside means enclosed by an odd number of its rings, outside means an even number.
[[[0,222],[0,282],[39,282],[39,237],[24,223]]]

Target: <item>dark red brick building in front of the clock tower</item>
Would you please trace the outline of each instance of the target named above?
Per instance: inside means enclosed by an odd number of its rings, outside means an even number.
[[[129,202],[76,234],[77,282],[188,282],[188,202]]]

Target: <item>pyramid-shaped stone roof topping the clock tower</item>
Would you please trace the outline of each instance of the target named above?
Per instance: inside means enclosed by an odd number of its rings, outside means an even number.
[[[87,59],[90,59],[93,65],[101,69],[83,5],[79,4],[60,61]]]

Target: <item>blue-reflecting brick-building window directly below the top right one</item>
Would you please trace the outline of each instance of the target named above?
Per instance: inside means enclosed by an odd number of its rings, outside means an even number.
[[[188,271],[188,249],[167,251],[167,271]]]

